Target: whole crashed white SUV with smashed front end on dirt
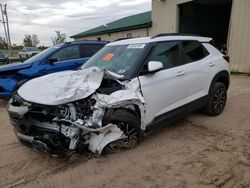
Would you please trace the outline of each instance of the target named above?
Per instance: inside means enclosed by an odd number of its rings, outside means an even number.
[[[78,71],[23,84],[8,111],[17,137],[69,156],[134,147],[151,126],[205,107],[220,114],[229,63],[211,38],[158,35],[107,44]]]

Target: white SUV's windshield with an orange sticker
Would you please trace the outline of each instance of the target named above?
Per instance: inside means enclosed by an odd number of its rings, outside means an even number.
[[[97,66],[116,74],[126,75],[133,69],[144,47],[145,44],[106,46],[90,58],[82,68]]]

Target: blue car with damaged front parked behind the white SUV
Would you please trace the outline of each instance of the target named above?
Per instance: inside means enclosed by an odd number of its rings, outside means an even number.
[[[0,66],[0,98],[11,98],[12,92],[29,79],[64,70],[77,70],[106,43],[67,42],[50,47],[24,63]]]

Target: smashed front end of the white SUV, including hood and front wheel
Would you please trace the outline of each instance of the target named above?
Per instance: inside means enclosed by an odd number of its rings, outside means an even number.
[[[145,129],[144,99],[136,78],[120,78],[92,67],[25,83],[8,107],[18,138],[58,155],[133,147]]]

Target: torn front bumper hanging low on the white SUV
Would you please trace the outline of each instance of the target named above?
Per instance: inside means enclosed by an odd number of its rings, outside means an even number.
[[[126,138],[114,124],[90,128],[80,120],[73,122],[55,118],[52,122],[41,122],[27,116],[29,107],[14,106],[12,100],[8,104],[8,112],[21,143],[54,155],[70,155],[86,148],[100,154],[107,144]]]

